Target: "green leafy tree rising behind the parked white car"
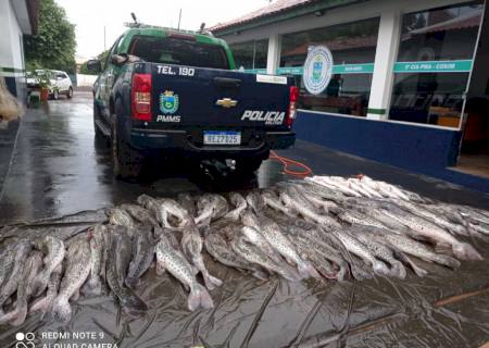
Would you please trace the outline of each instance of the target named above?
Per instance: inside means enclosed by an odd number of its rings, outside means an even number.
[[[38,33],[24,37],[24,48],[27,70],[75,72],[75,25],[54,0],[40,1]]]

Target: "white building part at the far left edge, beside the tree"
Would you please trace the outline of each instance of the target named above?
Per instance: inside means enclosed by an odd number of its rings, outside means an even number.
[[[12,95],[25,96],[23,36],[37,29],[39,0],[0,0],[0,76]]]

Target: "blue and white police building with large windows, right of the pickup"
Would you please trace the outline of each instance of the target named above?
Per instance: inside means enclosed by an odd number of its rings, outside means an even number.
[[[487,16],[484,0],[277,0],[212,32],[237,66],[296,76],[299,138],[476,187],[452,167],[462,149],[489,174]],[[334,75],[310,95],[302,65],[318,45]]]

